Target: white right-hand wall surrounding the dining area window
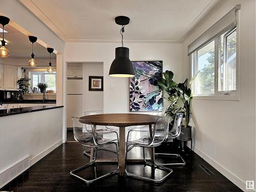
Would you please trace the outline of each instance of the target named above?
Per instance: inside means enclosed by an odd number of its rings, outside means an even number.
[[[245,190],[255,180],[255,1],[228,0],[183,42],[183,79],[188,77],[187,46],[236,4],[240,17],[240,100],[193,99],[195,151]]]

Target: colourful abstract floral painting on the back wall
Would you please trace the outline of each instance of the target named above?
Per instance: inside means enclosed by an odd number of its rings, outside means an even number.
[[[163,111],[163,93],[157,80],[163,61],[132,61],[135,77],[129,78],[130,112]]]

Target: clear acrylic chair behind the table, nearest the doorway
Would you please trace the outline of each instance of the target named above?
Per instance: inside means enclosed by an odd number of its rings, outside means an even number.
[[[84,112],[85,116],[99,115],[99,114],[103,114],[103,112],[102,111],[86,111],[86,112]],[[92,132],[90,126],[86,126],[86,129],[87,129],[88,132]],[[116,134],[117,143],[119,144],[118,133],[116,132],[115,129],[112,129],[108,126],[97,126],[97,133],[100,134],[100,135]],[[99,148],[99,150],[108,151],[108,152],[112,152],[112,153],[117,153],[117,151],[112,150],[112,148],[101,147],[101,148]],[[86,151],[83,152],[83,155],[85,155],[87,157],[91,157],[91,155],[89,153],[90,153],[90,150],[86,150]]]

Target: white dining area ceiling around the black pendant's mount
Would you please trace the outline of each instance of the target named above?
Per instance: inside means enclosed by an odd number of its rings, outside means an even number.
[[[130,17],[124,41],[182,42],[223,0],[19,0],[63,41],[120,41],[118,15]]]

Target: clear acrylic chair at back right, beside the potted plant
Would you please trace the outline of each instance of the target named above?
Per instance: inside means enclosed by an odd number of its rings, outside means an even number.
[[[172,129],[168,132],[168,139],[175,139],[180,136],[183,113],[177,113]],[[159,165],[185,165],[186,162],[179,154],[155,153],[155,156],[174,156],[181,159],[181,163],[157,163]]]

